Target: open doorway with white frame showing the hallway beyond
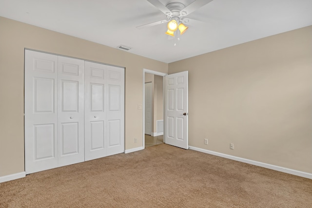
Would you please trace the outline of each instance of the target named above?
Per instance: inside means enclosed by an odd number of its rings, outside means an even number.
[[[143,149],[164,143],[164,76],[143,69]]]

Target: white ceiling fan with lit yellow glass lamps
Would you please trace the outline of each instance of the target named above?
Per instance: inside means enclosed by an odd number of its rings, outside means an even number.
[[[142,29],[145,27],[155,26],[158,24],[168,22],[167,23],[168,30],[166,34],[169,36],[175,37],[175,32],[177,31],[177,29],[180,31],[180,34],[182,35],[189,28],[188,26],[185,26],[183,23],[188,24],[189,20],[195,20],[195,19],[185,18],[187,15],[191,14],[196,9],[199,9],[200,7],[206,5],[207,3],[213,0],[194,0],[192,3],[190,3],[187,6],[185,6],[181,2],[171,2],[165,6],[159,0],[147,0],[147,1],[153,4],[162,13],[164,13],[167,16],[167,19],[162,19],[160,21],[140,25],[140,26],[137,26],[137,28]],[[198,20],[195,20],[195,21],[198,21]]]

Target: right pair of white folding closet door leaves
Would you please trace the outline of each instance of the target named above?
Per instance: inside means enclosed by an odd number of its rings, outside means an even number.
[[[124,68],[85,61],[85,160],[124,152]]]

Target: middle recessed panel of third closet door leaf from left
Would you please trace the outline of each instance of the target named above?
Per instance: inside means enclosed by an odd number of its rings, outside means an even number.
[[[104,111],[104,85],[91,84],[91,111]]]

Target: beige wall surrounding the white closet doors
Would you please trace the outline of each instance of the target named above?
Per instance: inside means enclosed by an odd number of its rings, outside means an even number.
[[[167,63],[0,17],[0,176],[24,171],[24,48],[125,67],[125,148],[142,147],[143,68]]]

